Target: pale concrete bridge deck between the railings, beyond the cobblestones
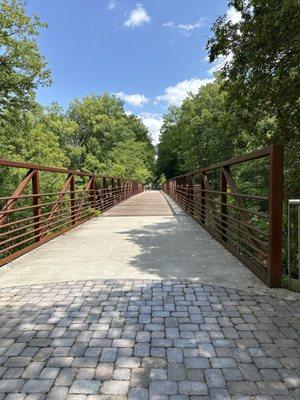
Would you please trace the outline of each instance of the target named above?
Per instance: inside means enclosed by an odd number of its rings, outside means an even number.
[[[134,196],[104,218],[94,218],[0,269],[2,287],[83,279],[178,279],[266,289],[160,192]]]

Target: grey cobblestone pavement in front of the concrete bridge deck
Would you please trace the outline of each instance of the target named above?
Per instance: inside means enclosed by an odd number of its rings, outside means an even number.
[[[299,309],[201,283],[2,288],[0,399],[299,399]]]

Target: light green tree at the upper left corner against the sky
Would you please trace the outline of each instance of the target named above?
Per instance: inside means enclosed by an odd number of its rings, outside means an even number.
[[[21,0],[0,3],[0,116],[16,118],[35,104],[35,89],[50,84],[50,71],[35,37],[45,27],[25,14]]]

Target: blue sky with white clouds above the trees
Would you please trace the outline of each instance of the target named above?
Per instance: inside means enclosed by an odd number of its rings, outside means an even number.
[[[48,23],[38,42],[53,84],[38,100],[118,94],[156,143],[168,106],[213,78],[205,44],[226,11],[226,0],[27,0]]]

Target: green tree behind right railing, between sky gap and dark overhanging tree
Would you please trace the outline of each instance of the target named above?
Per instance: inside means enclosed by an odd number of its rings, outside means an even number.
[[[237,127],[226,109],[226,92],[218,81],[190,95],[164,117],[158,145],[157,175],[168,178],[229,158]]]

